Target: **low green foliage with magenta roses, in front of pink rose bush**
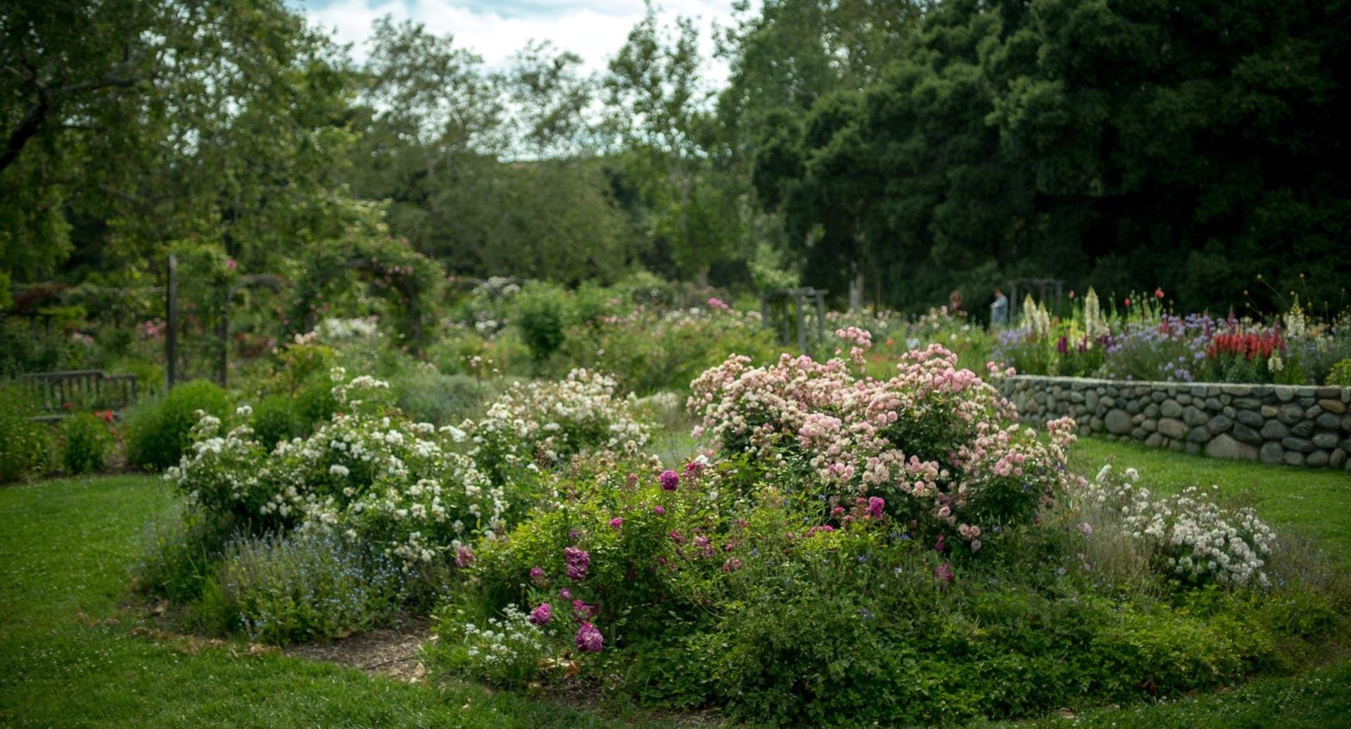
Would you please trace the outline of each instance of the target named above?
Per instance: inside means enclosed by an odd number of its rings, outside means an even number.
[[[947,725],[1282,671],[1336,630],[1344,599],[1292,572],[1274,593],[1210,587],[1161,602],[1154,580],[1086,563],[1075,552],[1104,552],[1051,520],[948,555],[900,522],[805,533],[820,518],[813,498],[763,490],[747,506],[724,491],[731,470],[685,473],[676,491],[626,470],[576,473],[573,498],[480,549],[476,579],[440,612],[438,670],[488,675],[467,656],[484,647],[459,636],[493,605],[549,602],[566,637],[580,599],[613,645],[605,666],[646,703],[713,702],[767,725]],[[586,551],[585,576],[569,575],[566,548]]]

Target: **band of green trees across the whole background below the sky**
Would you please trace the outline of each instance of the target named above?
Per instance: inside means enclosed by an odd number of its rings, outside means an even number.
[[[281,0],[5,4],[0,278],[154,275],[182,242],[284,270],[374,211],[449,274],[1343,304],[1344,0],[735,11],[713,88],[653,8],[586,73],[389,18],[358,63]]]

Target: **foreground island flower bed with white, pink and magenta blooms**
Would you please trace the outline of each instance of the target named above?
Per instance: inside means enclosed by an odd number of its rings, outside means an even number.
[[[434,674],[769,725],[1175,695],[1294,666],[1340,625],[1251,510],[1082,478],[1077,424],[1019,424],[1004,371],[929,346],[867,377],[873,338],[836,333],[828,362],[696,378],[704,443],[680,463],[586,371],[443,428],[336,371],[338,414],[270,450],[204,417],[168,475],[188,518],[142,582],[273,641],[430,612]]]

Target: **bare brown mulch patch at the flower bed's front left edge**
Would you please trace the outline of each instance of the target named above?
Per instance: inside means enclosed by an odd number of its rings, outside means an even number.
[[[327,660],[367,674],[420,683],[427,676],[427,667],[422,663],[422,644],[430,634],[431,621],[415,617],[403,620],[392,628],[377,628],[327,643],[301,643],[284,648],[282,652],[288,656]]]

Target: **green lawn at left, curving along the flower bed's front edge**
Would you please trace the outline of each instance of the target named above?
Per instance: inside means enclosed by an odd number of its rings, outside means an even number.
[[[477,687],[135,634],[134,613],[119,610],[128,566],[172,498],[147,477],[0,489],[0,725],[631,726]]]

